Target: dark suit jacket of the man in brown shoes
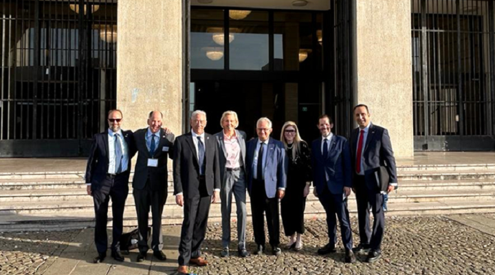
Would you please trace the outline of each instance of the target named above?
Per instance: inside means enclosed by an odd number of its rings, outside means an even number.
[[[220,189],[220,166],[217,138],[205,133],[205,179],[208,195],[213,189]],[[199,163],[192,142],[192,133],[180,135],[175,139],[173,157],[174,195],[184,193],[184,199],[199,194]]]

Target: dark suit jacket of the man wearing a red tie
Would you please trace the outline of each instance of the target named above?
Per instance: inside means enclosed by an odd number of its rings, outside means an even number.
[[[358,127],[351,133],[353,171],[355,171],[359,132],[360,128]],[[366,178],[366,186],[368,186],[370,190],[375,190],[379,185],[374,173],[377,169],[380,169],[380,166],[386,166],[386,170],[390,177],[390,183],[397,183],[395,157],[393,156],[392,143],[387,129],[371,124],[362,154],[364,156],[364,177]],[[355,172],[353,172],[353,175],[354,174]]]

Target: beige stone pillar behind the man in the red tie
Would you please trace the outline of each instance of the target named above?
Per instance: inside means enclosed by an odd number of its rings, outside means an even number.
[[[388,129],[396,157],[413,155],[411,0],[354,0],[355,103]]]

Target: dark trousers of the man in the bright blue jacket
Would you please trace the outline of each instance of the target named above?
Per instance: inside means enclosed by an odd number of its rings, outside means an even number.
[[[266,212],[268,236],[272,248],[280,244],[280,218],[278,217],[278,198],[268,198],[265,191],[265,181],[253,179],[251,189],[251,213],[254,230],[254,241],[257,245],[265,246]]]

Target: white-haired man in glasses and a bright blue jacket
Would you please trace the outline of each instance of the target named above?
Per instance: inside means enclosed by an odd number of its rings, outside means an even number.
[[[246,144],[246,170],[248,172],[248,190],[251,197],[251,212],[256,242],[255,255],[265,250],[266,212],[268,234],[272,253],[281,254],[280,219],[278,217],[278,199],[285,195],[287,184],[287,168],[289,159],[285,155],[282,142],[270,138],[272,122],[268,118],[260,118],[256,122],[258,138]]]

